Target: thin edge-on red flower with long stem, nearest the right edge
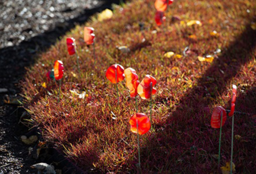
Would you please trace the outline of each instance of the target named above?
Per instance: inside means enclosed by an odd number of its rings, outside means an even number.
[[[234,103],[236,102],[236,93],[237,93],[237,86],[232,85],[232,98],[231,98],[231,108],[229,117],[232,117],[232,136],[231,136],[231,160],[230,160],[230,173],[232,174],[232,163],[233,163],[233,140],[234,140],[234,107],[236,106]]]

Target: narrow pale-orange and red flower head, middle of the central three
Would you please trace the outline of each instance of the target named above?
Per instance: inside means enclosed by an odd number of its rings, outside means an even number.
[[[133,68],[126,68],[125,78],[126,86],[130,90],[130,96],[135,97],[138,94],[138,84],[140,84],[140,82],[138,81],[138,75],[136,74],[136,71]]]

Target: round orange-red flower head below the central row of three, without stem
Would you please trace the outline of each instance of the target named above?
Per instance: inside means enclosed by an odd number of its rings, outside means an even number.
[[[138,129],[137,129],[137,123],[138,123]],[[136,113],[134,114],[130,120],[129,124],[131,125],[131,132],[138,133],[139,135],[143,135],[150,131],[150,119],[147,117],[147,115],[143,113]]]

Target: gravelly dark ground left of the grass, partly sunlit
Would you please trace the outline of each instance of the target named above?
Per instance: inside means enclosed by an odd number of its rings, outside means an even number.
[[[29,155],[30,146],[20,140],[20,136],[25,135],[29,128],[18,124],[24,110],[5,104],[4,96],[19,96],[19,81],[26,68],[35,63],[38,53],[55,44],[76,24],[86,22],[95,12],[111,9],[112,3],[119,1],[0,1],[0,88],[8,89],[8,92],[0,92],[0,174],[36,173],[30,166],[46,162]],[[56,157],[55,153],[50,154]],[[71,173],[70,170],[66,171]]]

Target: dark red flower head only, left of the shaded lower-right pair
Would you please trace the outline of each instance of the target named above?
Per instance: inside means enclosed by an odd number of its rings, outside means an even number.
[[[222,126],[225,124],[227,119],[226,110],[221,106],[217,106],[214,108],[214,111],[212,112],[212,118],[211,118],[212,128],[221,128],[221,113],[222,113]]]

